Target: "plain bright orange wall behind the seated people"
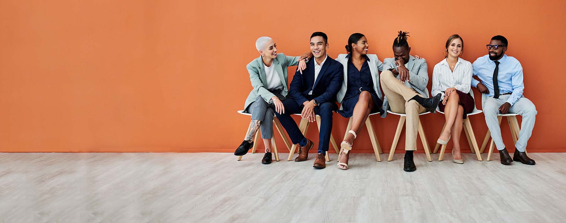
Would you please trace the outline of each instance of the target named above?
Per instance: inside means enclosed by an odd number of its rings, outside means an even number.
[[[564,152],[559,139],[565,106],[557,102],[564,94],[565,6],[564,1],[0,1],[0,151],[233,152],[249,122],[235,111],[251,90],[245,66],[258,57],[257,37],[270,36],[279,52],[299,55],[308,51],[310,34],[323,31],[335,58],[345,52],[348,36],[361,32],[370,53],[383,61],[392,57],[393,38],[403,30],[410,32],[412,53],[427,59],[430,74],[453,33],[464,37],[463,58],[472,62],[486,54],[491,36],[507,37],[508,55],[524,67],[525,96],[538,110],[528,148]],[[434,146],[444,119],[422,118]],[[398,118],[372,121],[388,151]],[[487,131],[483,115],[471,122],[481,144]],[[346,123],[335,114],[337,141]],[[509,128],[502,129],[511,147]],[[317,136],[311,127],[307,137]],[[371,151],[367,132],[359,136],[356,152]],[[401,137],[399,152],[404,133]],[[278,148],[286,151],[281,140]]]

